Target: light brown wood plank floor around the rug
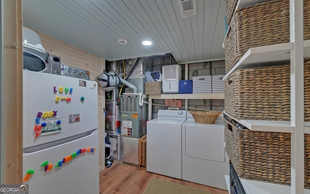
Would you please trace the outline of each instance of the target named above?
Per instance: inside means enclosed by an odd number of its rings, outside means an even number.
[[[152,178],[210,191],[211,194],[228,194],[221,189],[146,172],[137,166],[117,162],[100,172],[100,194],[142,194]]]

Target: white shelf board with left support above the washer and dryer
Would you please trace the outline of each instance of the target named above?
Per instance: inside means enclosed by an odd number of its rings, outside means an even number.
[[[152,119],[153,99],[224,99],[224,93],[196,93],[196,94],[150,94],[149,120]],[[186,108],[187,111],[187,108]]]

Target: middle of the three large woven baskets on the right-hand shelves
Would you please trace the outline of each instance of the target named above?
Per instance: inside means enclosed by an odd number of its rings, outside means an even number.
[[[304,65],[305,121],[310,121],[310,60]],[[290,120],[290,65],[239,69],[225,83],[225,112],[236,119]]]

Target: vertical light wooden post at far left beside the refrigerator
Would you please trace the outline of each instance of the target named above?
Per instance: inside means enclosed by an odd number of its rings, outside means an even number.
[[[3,71],[1,84],[3,142],[3,184],[22,183],[23,151],[23,52],[22,52],[22,2],[1,0]]]

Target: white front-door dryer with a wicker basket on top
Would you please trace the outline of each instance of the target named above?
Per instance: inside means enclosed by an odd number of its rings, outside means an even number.
[[[187,112],[182,129],[182,179],[228,190],[229,158],[224,146],[222,114],[215,124],[195,123]]]

